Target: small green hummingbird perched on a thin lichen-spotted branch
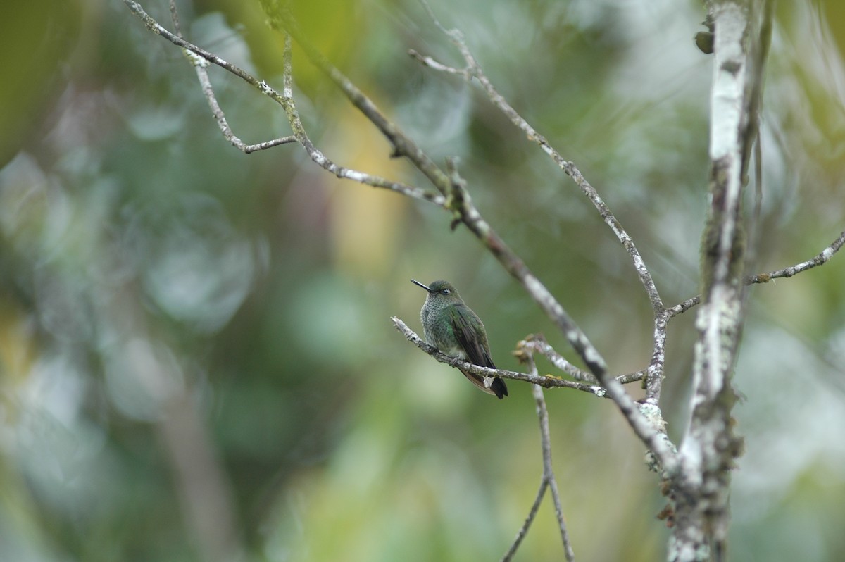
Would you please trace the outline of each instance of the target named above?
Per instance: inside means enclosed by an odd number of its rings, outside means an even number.
[[[487,332],[481,319],[464,304],[455,287],[449,281],[433,281],[431,285],[423,285],[414,279],[411,282],[428,291],[428,297],[420,311],[428,344],[452,357],[482,367],[496,368],[490,358]],[[499,400],[508,396],[508,387],[501,378],[492,377],[492,382],[487,384],[485,379],[491,377],[469,373],[462,368],[459,370],[473,385],[495,395]]]

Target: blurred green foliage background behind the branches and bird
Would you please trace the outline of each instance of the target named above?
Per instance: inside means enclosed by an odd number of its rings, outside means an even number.
[[[143,3],[172,28],[166,2]],[[700,2],[431,0],[499,91],[575,161],[667,304],[697,292],[711,58]],[[281,88],[258,2],[179,3],[188,39]],[[313,42],[436,161],[614,373],[651,354],[630,260],[574,183],[472,85],[414,0],[299,2]],[[341,182],[297,145],[244,155],[193,69],[117,0],[0,8],[0,560],[493,560],[541,475],[530,389],[496,401],[394,330],[453,281],[493,357],[564,339],[450,216]],[[756,271],[845,225],[845,6],[777,3]],[[218,68],[237,135],[289,134]],[[343,166],[428,187],[294,53],[309,134]],[[731,553],[845,559],[845,254],[750,292],[735,384],[745,455]],[[688,412],[693,313],[669,328],[662,407]],[[553,372],[541,363],[542,372]],[[630,391],[640,396],[632,385]],[[575,554],[662,559],[665,505],[609,401],[547,392]],[[234,545],[234,546],[233,546]],[[562,559],[548,499],[518,560]]]

